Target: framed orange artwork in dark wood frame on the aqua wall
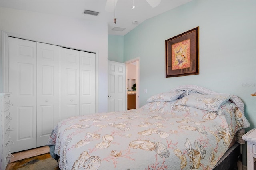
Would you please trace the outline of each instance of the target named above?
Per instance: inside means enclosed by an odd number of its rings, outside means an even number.
[[[166,78],[199,74],[199,27],[165,40]]]

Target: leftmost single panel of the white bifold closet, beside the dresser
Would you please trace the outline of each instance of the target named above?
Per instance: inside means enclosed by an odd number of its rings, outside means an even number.
[[[9,91],[13,100],[11,152],[36,147],[36,42],[9,37]]]

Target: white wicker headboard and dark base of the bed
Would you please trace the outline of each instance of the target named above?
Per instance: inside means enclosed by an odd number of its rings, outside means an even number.
[[[178,99],[181,99],[187,95],[190,95],[192,93],[198,93],[198,94],[205,94],[205,95],[212,95],[212,94],[224,94],[224,93],[217,93],[214,91],[211,91],[209,89],[206,89],[204,87],[200,87],[197,85],[182,85],[179,87],[176,87],[170,91],[183,91],[182,95],[178,97]],[[238,106],[238,108],[244,113],[244,103],[242,100],[235,96],[231,95],[230,101],[232,101],[235,105]],[[236,132],[236,143],[230,147],[227,152],[222,156],[222,158],[219,160],[219,162],[214,166],[214,170],[236,170],[236,169],[242,169],[242,167],[237,167],[238,160],[241,161],[242,165],[242,147],[241,144],[245,144],[245,141],[242,139],[242,136],[245,134],[244,129],[240,129]]]

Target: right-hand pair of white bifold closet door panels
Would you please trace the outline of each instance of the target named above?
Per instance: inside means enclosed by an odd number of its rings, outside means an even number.
[[[95,54],[60,48],[60,56],[60,120],[95,113]]]

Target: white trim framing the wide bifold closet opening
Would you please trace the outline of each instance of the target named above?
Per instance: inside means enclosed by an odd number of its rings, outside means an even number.
[[[38,40],[37,38],[31,38],[27,36],[22,36],[19,34],[14,34],[11,32],[5,32],[2,30],[2,83],[0,82],[0,91],[2,92],[9,92],[8,89],[8,37],[15,37],[15,38],[22,38],[24,40],[30,40],[30,41],[35,41],[35,42],[40,42],[40,43],[48,43],[49,42],[44,42],[43,40]],[[58,45],[58,44],[51,44],[51,45]],[[60,46],[60,45],[58,45]],[[69,48],[69,47],[67,47]],[[82,49],[78,49],[80,51],[84,51]],[[95,52],[95,57],[96,57],[96,113],[99,111],[99,51],[93,51]],[[1,87],[2,85],[2,87]]]

